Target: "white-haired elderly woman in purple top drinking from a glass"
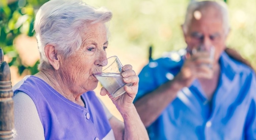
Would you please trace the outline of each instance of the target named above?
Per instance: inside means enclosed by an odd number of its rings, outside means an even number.
[[[133,105],[139,78],[131,65],[122,76],[126,93],[113,98],[123,121],[112,116],[92,91],[92,71],[106,59],[107,9],[76,0],[51,0],[37,12],[34,29],[41,55],[39,72],[14,87],[15,139],[146,140],[146,129]]]

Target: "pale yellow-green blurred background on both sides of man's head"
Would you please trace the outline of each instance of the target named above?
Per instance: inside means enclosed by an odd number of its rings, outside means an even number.
[[[186,47],[181,25],[190,0],[85,0],[92,6],[105,6],[113,12],[110,23],[111,46],[127,54],[153,58],[165,51]],[[256,68],[256,0],[225,0],[231,31],[226,42]]]

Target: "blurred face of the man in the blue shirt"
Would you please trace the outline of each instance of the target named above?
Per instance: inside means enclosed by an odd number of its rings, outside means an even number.
[[[214,63],[217,63],[221,53],[225,49],[227,33],[223,29],[222,17],[218,12],[212,10],[194,12],[194,18],[184,32],[187,49],[192,50],[200,45],[209,50],[211,46],[215,47]]]

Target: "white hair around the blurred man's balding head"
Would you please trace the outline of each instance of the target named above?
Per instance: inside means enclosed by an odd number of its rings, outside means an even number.
[[[189,28],[189,25],[193,19],[194,12],[195,11],[201,11],[207,10],[209,6],[215,6],[215,8],[218,8],[220,11],[220,14],[222,15],[222,24],[223,29],[225,33],[228,33],[229,31],[229,22],[228,22],[228,8],[225,2],[220,0],[207,0],[207,1],[201,1],[198,2],[196,0],[191,0],[186,12],[185,22],[183,24],[184,31],[187,32],[187,29]]]

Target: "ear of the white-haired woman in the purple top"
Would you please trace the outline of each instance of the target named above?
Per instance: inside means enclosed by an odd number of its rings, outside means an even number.
[[[55,46],[47,44],[44,47],[44,53],[49,63],[53,66],[53,68],[58,70],[60,66],[60,61],[59,61],[60,59],[59,59],[59,55],[57,55]]]

